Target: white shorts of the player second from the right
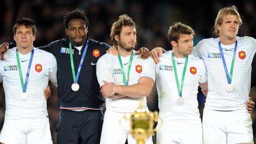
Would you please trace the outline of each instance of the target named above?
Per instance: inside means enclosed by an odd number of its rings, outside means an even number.
[[[199,124],[168,126],[163,124],[156,131],[157,144],[203,144],[201,121]]]

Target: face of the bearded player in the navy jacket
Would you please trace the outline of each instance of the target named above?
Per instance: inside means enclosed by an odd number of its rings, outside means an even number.
[[[73,46],[83,46],[87,39],[87,27],[81,19],[73,19],[69,21],[66,34],[69,36]]]

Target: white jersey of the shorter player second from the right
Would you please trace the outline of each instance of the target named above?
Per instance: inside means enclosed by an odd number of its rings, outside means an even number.
[[[165,124],[195,124],[200,121],[200,114],[197,102],[197,92],[199,83],[206,84],[206,68],[203,60],[194,55],[188,55],[187,69],[185,71],[182,96],[184,104],[177,105],[180,97],[175,81],[174,68],[171,59],[172,51],[164,53],[159,57],[160,62],[156,65],[156,88],[158,90],[159,117]],[[178,81],[181,87],[181,78],[185,57],[174,58]]]

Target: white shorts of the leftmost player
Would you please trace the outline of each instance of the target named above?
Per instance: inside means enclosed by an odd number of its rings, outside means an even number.
[[[4,121],[0,142],[5,144],[52,144],[49,121]]]

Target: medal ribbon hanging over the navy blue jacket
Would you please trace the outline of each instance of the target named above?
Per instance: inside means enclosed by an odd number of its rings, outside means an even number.
[[[75,68],[74,68],[74,65],[73,65],[72,46],[71,46],[71,43],[69,42],[69,54],[70,54],[70,57],[71,57],[71,69],[72,69],[72,75],[73,75],[74,83],[78,82],[79,74],[80,74],[80,71],[81,71],[81,68],[82,68],[82,63],[84,62],[84,57],[85,57],[85,53],[87,52],[88,45],[89,45],[89,41],[87,40],[82,58],[81,58],[80,63],[79,63],[78,71],[76,72],[76,76],[75,76]]]

